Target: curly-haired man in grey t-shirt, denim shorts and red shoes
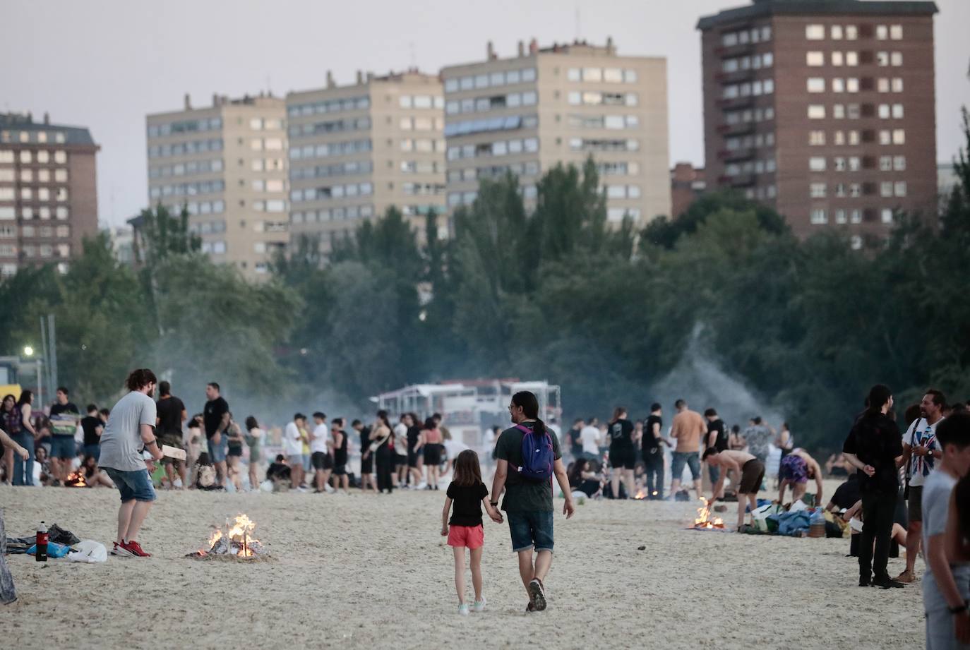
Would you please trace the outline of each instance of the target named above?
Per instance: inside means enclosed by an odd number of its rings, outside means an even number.
[[[162,450],[155,440],[155,375],[147,368],[132,371],[125,384],[129,393],[112,408],[101,435],[99,465],[112,477],[121,493],[118,532],[112,555],[151,557],[135,540],[155,501],[155,489],[142,458],[146,450],[156,461]]]

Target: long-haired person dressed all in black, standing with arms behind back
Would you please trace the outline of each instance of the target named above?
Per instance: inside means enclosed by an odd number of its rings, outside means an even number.
[[[860,472],[858,487],[862,496],[863,524],[858,554],[859,587],[870,584],[883,589],[903,586],[889,578],[886,570],[892,517],[899,491],[898,468],[903,457],[902,437],[895,422],[889,418],[890,408],[892,392],[889,387],[873,386],[865,411],[842,446],[846,460]]]

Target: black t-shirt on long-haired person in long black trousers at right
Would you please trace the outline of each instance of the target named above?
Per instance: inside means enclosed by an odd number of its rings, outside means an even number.
[[[896,458],[903,455],[902,436],[896,423],[884,413],[866,411],[856,420],[842,445],[842,451],[856,454],[858,460],[876,471],[870,478],[858,472],[858,489],[863,494],[895,494],[899,490]]]

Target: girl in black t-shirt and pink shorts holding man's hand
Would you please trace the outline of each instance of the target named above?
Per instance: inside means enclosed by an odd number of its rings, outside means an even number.
[[[482,596],[482,544],[485,531],[482,529],[482,510],[493,521],[501,524],[501,513],[488,501],[488,488],[482,482],[482,472],[478,465],[478,454],[466,449],[455,461],[455,472],[448,485],[441,512],[441,536],[448,537],[448,545],[455,554],[455,589],[458,591],[458,613],[469,614],[465,601],[465,549],[471,552],[471,586],[475,590],[475,601],[470,610],[480,612],[485,609]],[[448,521],[448,512],[451,521]],[[450,529],[449,529],[450,525]]]

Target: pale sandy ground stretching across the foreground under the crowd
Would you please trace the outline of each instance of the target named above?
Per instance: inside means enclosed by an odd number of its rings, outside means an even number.
[[[828,494],[837,483],[826,482]],[[486,518],[488,608],[457,615],[443,493],[161,492],[149,559],[8,556],[8,648],[725,648],[921,646],[921,590],[860,589],[849,541],[684,530],[695,504],[592,502],[556,518],[549,609],[526,616],[506,525]],[[562,500],[557,500],[562,504]],[[729,504],[732,506],[733,504]],[[110,545],[110,489],[0,487],[8,536],[57,523]],[[200,562],[211,526],[244,512],[272,562]],[[726,520],[732,521],[728,511]],[[637,550],[646,546],[646,550]],[[918,562],[918,574],[922,561]],[[903,567],[889,561],[890,575]],[[469,599],[470,578],[469,578]],[[532,639],[532,640],[527,640]]]

